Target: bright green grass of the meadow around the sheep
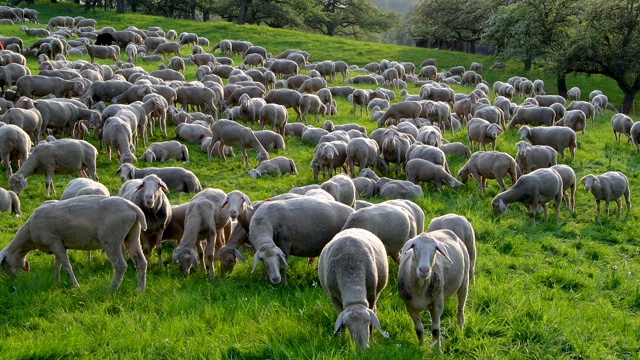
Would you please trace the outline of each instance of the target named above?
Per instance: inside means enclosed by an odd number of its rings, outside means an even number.
[[[40,19],[58,14],[83,14],[70,3],[39,2]],[[446,51],[416,49],[390,45],[360,43],[332,39],[313,34],[228,23],[193,23],[183,20],[147,17],[138,14],[115,15],[97,12],[99,26],[123,28],[136,25],[146,28],[160,25],[164,29],[194,31],[212,43],[223,38],[246,39],[265,46],[273,53],[295,47],[309,51],[312,60],[345,60],[364,65],[382,58],[420,63],[435,57],[440,67],[468,65],[481,59],[485,66],[491,58]],[[18,26],[0,26],[5,36],[22,35]],[[29,42],[33,39],[26,40]],[[183,49],[186,54],[188,49]],[[238,62],[239,58],[235,58]],[[34,59],[29,66],[36,70]],[[141,64],[153,70],[157,64]],[[489,82],[516,75],[520,66],[508,63],[509,71],[485,71]],[[195,67],[187,69],[187,77],[195,77]],[[532,72],[530,78],[542,77],[547,92],[553,93],[553,81],[543,73]],[[580,84],[584,94],[599,88],[617,101],[621,94],[611,81],[598,77],[578,76],[569,85]],[[471,88],[456,87],[457,92]],[[417,93],[417,88],[411,88]],[[354,117],[350,104],[338,100],[336,123],[359,122],[369,131],[375,124]],[[520,99],[518,99],[519,101]],[[587,173],[620,170],[629,177],[633,208],[615,211],[611,218],[595,221],[595,204],[591,195],[580,188],[576,213],[571,215],[563,205],[559,224],[537,218],[531,228],[524,208],[509,206],[499,219],[491,212],[491,198],[499,192],[495,181],[489,181],[482,196],[470,181],[458,191],[445,189],[435,193],[425,187],[425,197],[416,199],[425,211],[427,221],[446,213],[466,216],[477,236],[478,260],[476,284],[470,287],[467,323],[460,331],[455,326],[455,300],[446,302],[442,316],[444,357],[458,358],[623,358],[640,357],[640,247],[636,228],[640,213],[636,193],[640,189],[638,153],[630,145],[613,140],[609,119],[612,113],[597,118],[596,125],[578,135],[579,148],[575,160],[566,160],[579,177]],[[637,117],[635,120],[639,120]],[[590,124],[589,124],[590,125]],[[173,127],[170,127],[173,137]],[[156,134],[152,141],[163,138]],[[457,133],[452,141],[466,143],[465,134]],[[498,150],[511,154],[517,140],[514,131],[501,137]],[[94,139],[89,139],[97,145]],[[296,161],[297,176],[265,177],[253,180],[240,157],[229,157],[226,163],[216,158],[209,163],[199,146],[188,145],[192,161],[187,164],[169,162],[167,166],[184,166],[194,171],[204,186],[226,192],[240,189],[252,200],[258,200],[314,181],[308,164],[313,145],[300,139],[287,138],[287,149],[277,152]],[[136,153],[139,155],[140,147]],[[272,154],[275,155],[275,154]],[[250,152],[255,164],[255,153]],[[452,172],[464,164],[450,157]],[[144,166],[144,164],[138,164]],[[116,194],[120,186],[114,176],[116,163],[108,163],[101,152],[98,175]],[[6,175],[0,175],[6,184]],[[74,176],[54,177],[59,198],[66,183]],[[401,176],[403,177],[403,176]],[[29,187],[20,198],[23,216],[13,218],[0,214],[0,246],[4,247],[33,210],[44,200],[44,177],[28,179]],[[190,195],[170,193],[172,204],[187,202]],[[375,199],[379,201],[379,199]],[[313,221],[313,219],[301,219]],[[172,250],[165,245],[164,257]],[[183,278],[174,266],[160,268],[157,258],[150,261],[147,292],[136,292],[133,264],[129,261],[124,282],[117,293],[107,286],[113,268],[99,253],[87,262],[83,252],[72,251],[71,261],[80,288],[70,287],[62,275],[60,285],[53,284],[51,255],[34,251],[29,255],[31,272],[0,281],[0,357],[1,358],[431,358],[432,346],[418,346],[413,326],[396,291],[397,265],[390,264],[387,288],[378,303],[381,326],[389,339],[374,335],[371,350],[355,351],[350,340],[332,337],[337,314],[318,285],[315,267],[306,259],[290,259],[289,286],[274,286],[261,275],[260,268],[251,273],[250,266],[240,264],[228,278],[213,282],[204,273]],[[251,261],[252,255],[245,252]],[[428,313],[423,323],[429,326]]]

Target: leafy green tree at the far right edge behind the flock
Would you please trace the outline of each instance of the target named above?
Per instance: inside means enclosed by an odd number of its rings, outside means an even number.
[[[628,113],[640,92],[640,1],[585,0],[564,60],[567,72],[601,74],[618,84]]]

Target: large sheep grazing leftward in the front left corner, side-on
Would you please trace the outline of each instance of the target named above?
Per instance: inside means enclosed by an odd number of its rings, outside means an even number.
[[[64,201],[47,201],[33,212],[9,245],[0,252],[0,265],[10,276],[17,275],[20,269],[29,271],[26,256],[32,249],[38,248],[55,255],[56,283],[60,282],[60,268],[64,267],[71,278],[71,285],[78,287],[67,249],[104,249],[115,270],[109,288],[116,291],[127,269],[123,254],[123,248],[126,247],[138,274],[138,290],[143,293],[147,261],[140,248],[140,230],[146,228],[142,211],[124,199],[81,196]]]

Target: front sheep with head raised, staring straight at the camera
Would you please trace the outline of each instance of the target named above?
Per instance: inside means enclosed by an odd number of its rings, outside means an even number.
[[[431,339],[440,352],[440,316],[444,301],[453,294],[457,295],[458,327],[464,326],[469,267],[466,247],[451,230],[422,233],[404,245],[398,268],[398,295],[413,321],[420,345],[424,344],[420,311],[429,309]]]

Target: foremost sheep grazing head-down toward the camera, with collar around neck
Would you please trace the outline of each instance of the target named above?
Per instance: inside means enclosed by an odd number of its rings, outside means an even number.
[[[347,326],[356,347],[364,349],[369,348],[370,326],[388,337],[375,313],[376,300],[389,277],[380,239],[364,229],[339,232],[320,253],[318,276],[338,313],[334,334]]]

